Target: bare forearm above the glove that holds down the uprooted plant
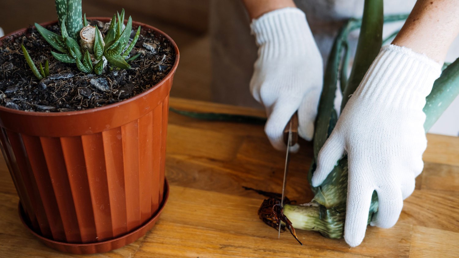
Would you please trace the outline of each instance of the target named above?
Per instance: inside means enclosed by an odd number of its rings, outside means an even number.
[[[459,3],[418,0],[392,44],[408,47],[437,62],[444,62],[459,33]]]

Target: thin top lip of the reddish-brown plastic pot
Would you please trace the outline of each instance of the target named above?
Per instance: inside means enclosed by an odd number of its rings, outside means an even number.
[[[101,22],[108,22],[108,21],[112,20],[111,17],[100,17],[100,16],[86,17],[86,19],[88,19],[88,20],[99,20]],[[124,21],[127,21],[127,20],[125,19]],[[54,20],[54,21],[50,21],[50,22],[42,22],[42,23],[39,23],[39,24],[41,26],[43,26],[43,27],[46,27],[46,26],[49,26],[49,25],[57,23],[57,22],[58,22],[57,20]],[[154,91],[156,88],[160,87],[163,84],[163,82],[167,81],[170,77],[174,76],[174,71],[177,69],[177,66],[179,65],[179,59],[180,59],[179,48],[177,47],[177,44],[174,42],[174,40],[168,34],[164,33],[162,30],[160,30],[160,29],[158,29],[156,27],[153,27],[151,25],[142,23],[142,22],[132,21],[132,24],[133,25],[135,24],[137,26],[141,26],[142,30],[143,30],[143,28],[147,28],[149,30],[152,30],[152,31],[155,31],[156,33],[161,34],[162,36],[164,36],[165,38],[167,38],[169,40],[169,42],[174,46],[174,50],[175,50],[175,60],[174,60],[174,65],[172,66],[171,70],[168,72],[168,74],[165,77],[163,77],[161,79],[161,81],[157,82],[154,86],[152,86],[148,90],[146,90],[146,91],[144,91],[142,93],[139,93],[139,94],[137,94],[135,96],[132,96],[129,99],[124,99],[124,100],[118,101],[116,103],[108,104],[108,105],[105,105],[105,106],[102,106],[102,107],[86,109],[86,110],[64,111],[64,112],[37,112],[37,111],[14,110],[14,109],[10,109],[10,108],[4,107],[4,106],[0,106],[0,111],[13,113],[13,114],[17,114],[17,115],[38,116],[38,117],[41,117],[41,116],[59,117],[59,116],[82,115],[82,114],[87,114],[87,113],[92,113],[92,112],[97,112],[97,111],[116,108],[116,107],[118,107],[120,105],[127,104],[129,102],[135,101],[136,99],[143,98],[145,95],[147,95],[150,92]],[[11,33],[8,33],[3,37],[0,37],[0,46],[2,45],[2,41],[5,38],[7,38],[9,36],[14,36],[15,34],[18,34],[18,33],[23,33],[27,29],[28,29],[27,27],[26,28],[21,28],[21,29],[18,29],[16,31],[13,31]]]

